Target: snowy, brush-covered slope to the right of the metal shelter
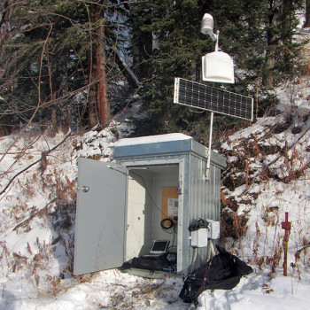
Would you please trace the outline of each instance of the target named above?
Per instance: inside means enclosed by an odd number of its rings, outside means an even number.
[[[229,157],[223,213],[235,221],[236,236],[243,236],[234,245],[238,254],[253,263],[279,265],[286,212],[289,261],[295,264],[295,252],[310,241],[309,95],[306,83],[279,89],[274,116],[259,119],[222,144]],[[306,262],[306,251],[302,255]]]

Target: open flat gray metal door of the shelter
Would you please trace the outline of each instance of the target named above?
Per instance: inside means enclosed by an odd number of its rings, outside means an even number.
[[[126,167],[79,159],[74,275],[122,265],[126,197]]]

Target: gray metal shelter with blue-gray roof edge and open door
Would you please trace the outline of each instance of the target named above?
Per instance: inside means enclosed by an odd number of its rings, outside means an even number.
[[[220,221],[221,169],[226,160],[190,136],[168,134],[120,139],[114,162],[79,159],[74,274],[120,267],[149,252],[153,240],[174,245],[176,272],[188,275],[193,248],[190,222]],[[175,221],[172,233],[160,226]],[[198,247],[195,267],[210,255]]]

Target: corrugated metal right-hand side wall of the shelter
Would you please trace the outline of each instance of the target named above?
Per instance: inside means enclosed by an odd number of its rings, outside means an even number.
[[[221,213],[221,166],[211,166],[210,178],[205,180],[206,159],[197,154],[185,157],[183,175],[183,208],[179,219],[178,245],[182,256],[178,260],[178,272],[187,275],[190,272],[193,249],[190,246],[190,222],[199,218],[220,221]],[[209,260],[207,248],[198,248],[195,267]]]

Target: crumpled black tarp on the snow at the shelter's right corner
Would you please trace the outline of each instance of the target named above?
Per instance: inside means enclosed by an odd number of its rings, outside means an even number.
[[[239,283],[241,276],[252,273],[252,267],[243,260],[218,245],[216,248],[219,254],[185,279],[179,295],[184,302],[196,301],[205,290],[231,290]]]

